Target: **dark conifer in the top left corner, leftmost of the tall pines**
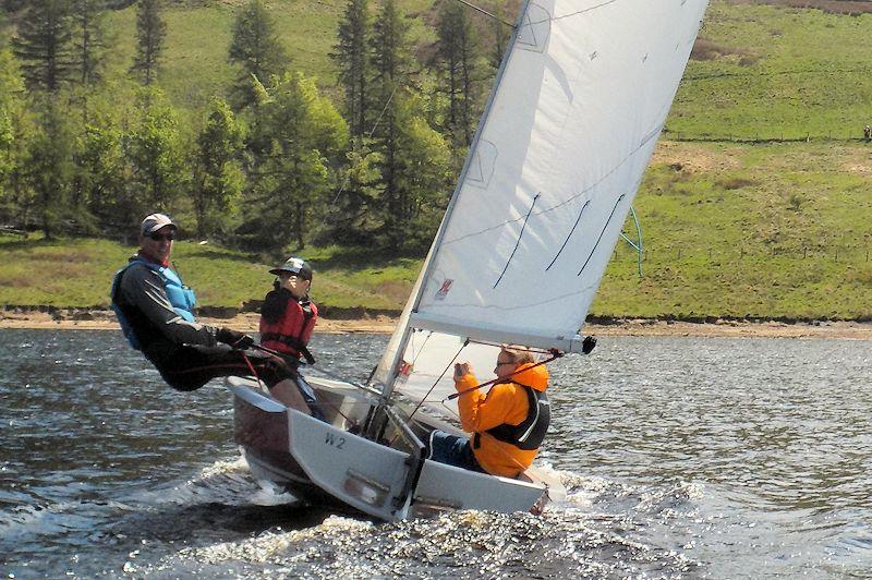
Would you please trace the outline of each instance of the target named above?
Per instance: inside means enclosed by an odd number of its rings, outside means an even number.
[[[69,0],[33,0],[13,41],[29,90],[57,93],[73,72]]]

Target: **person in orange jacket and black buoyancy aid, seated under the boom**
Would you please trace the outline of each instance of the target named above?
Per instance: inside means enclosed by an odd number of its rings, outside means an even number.
[[[429,459],[506,478],[517,478],[533,462],[550,423],[548,371],[525,348],[504,346],[494,372],[498,382],[486,395],[475,389],[458,399],[461,426],[472,436],[434,431]],[[470,363],[455,365],[458,392],[477,385]]]

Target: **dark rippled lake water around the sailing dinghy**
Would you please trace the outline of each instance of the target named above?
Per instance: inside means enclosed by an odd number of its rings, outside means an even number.
[[[365,378],[385,336],[317,336]],[[872,575],[872,342],[604,337],[552,367],[542,517],[382,523],[255,483],[220,383],[120,333],[0,330],[3,577]]]

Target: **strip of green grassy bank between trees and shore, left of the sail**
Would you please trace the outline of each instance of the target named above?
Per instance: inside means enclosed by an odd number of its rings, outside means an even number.
[[[113,274],[135,249],[108,240],[0,235],[0,304],[5,306],[108,307]],[[353,252],[302,253],[316,273],[312,295],[323,306],[400,310],[421,261],[352,261]],[[194,242],[177,242],[173,265],[197,292],[201,306],[241,307],[271,288],[276,264],[263,256]]]

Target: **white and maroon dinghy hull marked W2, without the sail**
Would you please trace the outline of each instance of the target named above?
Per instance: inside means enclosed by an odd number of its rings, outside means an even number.
[[[329,424],[284,407],[253,380],[228,379],[235,398],[234,436],[252,473],[303,499],[392,521],[447,508],[531,511],[565,494],[556,478],[533,469],[510,480],[424,459],[390,421],[382,430],[383,443],[356,435],[350,431],[360,431],[376,398],[346,383],[310,384],[328,401],[323,410]],[[447,427],[426,420],[429,424],[414,422],[419,439],[437,424]]]

